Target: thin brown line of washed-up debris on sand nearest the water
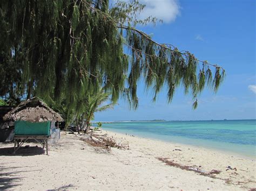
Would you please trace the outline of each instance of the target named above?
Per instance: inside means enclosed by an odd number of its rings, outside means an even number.
[[[200,175],[209,176],[211,178],[215,178],[214,174],[221,173],[221,171],[215,170],[215,169],[212,169],[212,171],[210,171],[210,172],[203,171],[203,170],[200,169],[201,166],[199,166],[199,168],[197,168],[197,167],[193,167],[193,166],[180,165],[176,162],[173,162],[173,161],[169,160],[169,158],[158,157],[157,159],[162,161],[162,162],[165,162],[166,165],[181,168],[181,169],[184,169],[186,171],[193,171],[193,172],[199,173]]]

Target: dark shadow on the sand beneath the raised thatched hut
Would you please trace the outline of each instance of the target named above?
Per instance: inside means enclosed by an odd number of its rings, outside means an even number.
[[[0,148],[0,156],[14,156],[14,147],[4,147]],[[22,146],[19,148],[18,151],[16,151],[15,156],[33,156],[33,155],[39,155],[44,154],[45,149],[38,146],[29,146],[25,147]]]

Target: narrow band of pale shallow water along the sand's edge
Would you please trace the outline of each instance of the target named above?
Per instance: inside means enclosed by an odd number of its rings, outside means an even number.
[[[120,135],[129,135],[129,136],[136,136],[136,137],[139,137],[139,138],[143,138],[143,139],[148,139],[148,140],[154,140],[154,141],[158,141],[158,142],[163,142],[163,143],[170,143],[170,144],[179,144],[179,145],[183,145],[183,146],[187,146],[187,147],[195,147],[195,148],[201,148],[201,149],[206,149],[206,150],[210,150],[210,151],[215,151],[215,152],[220,152],[220,153],[223,153],[223,154],[228,154],[228,155],[234,155],[235,157],[240,157],[240,158],[244,158],[244,159],[249,159],[249,160],[254,160],[256,161],[256,155],[244,155],[244,154],[241,154],[241,153],[238,153],[238,152],[235,152],[235,151],[228,151],[228,150],[221,150],[221,149],[218,149],[218,148],[214,148],[214,147],[211,147],[211,146],[199,146],[199,145],[192,145],[192,144],[186,144],[186,143],[179,143],[179,142],[175,142],[175,141],[171,141],[171,140],[163,140],[163,139],[158,139],[158,138],[154,138],[154,137],[143,137],[143,136],[140,136],[140,135],[132,135],[131,133],[126,133],[126,132],[118,132],[118,131],[112,131],[111,130],[105,130],[105,129],[108,129],[108,128],[102,128],[103,131],[107,131],[107,132],[111,132],[111,133],[118,133]],[[255,146],[256,148],[256,146]]]

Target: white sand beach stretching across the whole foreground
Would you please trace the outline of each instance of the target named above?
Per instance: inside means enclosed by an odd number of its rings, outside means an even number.
[[[102,134],[106,133],[105,131]],[[250,190],[256,188],[255,160],[188,145],[107,132],[129,150],[92,147],[79,135],[50,146],[36,144],[12,155],[0,144],[0,189],[11,190]],[[159,158],[162,160],[159,160]],[[164,162],[165,161],[165,162]],[[171,161],[167,165],[166,162]],[[170,164],[170,162],[169,162]],[[198,169],[198,172],[181,169]],[[229,168],[227,168],[230,166]],[[219,174],[209,174],[212,170]],[[214,172],[214,171],[212,171]],[[211,176],[211,177],[210,177]]]

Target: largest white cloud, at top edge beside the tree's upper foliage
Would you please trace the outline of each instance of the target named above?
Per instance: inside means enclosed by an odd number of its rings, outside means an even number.
[[[162,19],[164,23],[170,23],[180,12],[178,0],[141,0],[140,3],[146,5],[139,15],[140,19],[152,16]]]

